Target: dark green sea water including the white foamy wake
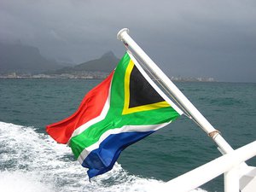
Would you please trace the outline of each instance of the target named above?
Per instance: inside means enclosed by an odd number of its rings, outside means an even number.
[[[45,125],[74,113],[99,83],[0,79],[0,191],[151,191],[221,155],[211,138],[183,115],[126,148],[111,172],[89,182],[71,149],[55,143]],[[255,140],[256,84],[187,82],[177,87],[233,148]],[[247,164],[256,166],[255,158]],[[195,191],[222,192],[223,186],[220,176]]]

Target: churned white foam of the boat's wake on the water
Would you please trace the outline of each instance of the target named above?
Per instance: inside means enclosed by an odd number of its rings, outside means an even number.
[[[73,160],[71,149],[32,127],[0,122],[0,191],[152,191],[163,182],[113,170],[92,179]],[[205,191],[195,189],[195,191]]]

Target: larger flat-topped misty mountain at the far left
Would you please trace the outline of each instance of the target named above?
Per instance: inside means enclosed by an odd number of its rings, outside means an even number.
[[[61,65],[44,58],[36,47],[0,43],[0,73],[40,73],[58,68]]]

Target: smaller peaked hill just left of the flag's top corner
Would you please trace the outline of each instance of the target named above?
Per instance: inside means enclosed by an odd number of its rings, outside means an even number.
[[[82,72],[102,72],[110,73],[117,66],[119,59],[113,55],[112,51],[102,55],[99,59],[83,62],[74,67],[63,67],[50,73],[82,73]]]

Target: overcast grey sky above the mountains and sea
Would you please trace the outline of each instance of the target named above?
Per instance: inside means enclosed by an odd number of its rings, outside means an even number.
[[[120,58],[125,27],[168,76],[256,82],[255,0],[0,0],[0,41],[56,61]]]

